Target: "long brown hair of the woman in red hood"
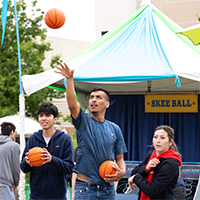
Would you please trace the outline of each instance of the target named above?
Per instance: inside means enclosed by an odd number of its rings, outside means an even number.
[[[171,148],[179,155],[181,156],[181,154],[178,152],[178,148],[177,148],[177,145],[176,143],[174,142],[174,129],[171,128],[170,126],[167,126],[167,125],[161,125],[161,126],[158,126],[154,133],[158,130],[164,130],[165,132],[167,132],[167,135],[168,135],[168,138],[169,138],[169,141],[172,141],[173,140],[173,143],[171,145]]]

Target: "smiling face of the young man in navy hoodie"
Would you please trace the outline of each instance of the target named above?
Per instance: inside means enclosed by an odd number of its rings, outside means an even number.
[[[54,118],[52,114],[40,113],[38,117],[39,117],[39,123],[42,129],[51,128],[52,126],[54,126],[54,123],[57,121],[57,117]]]

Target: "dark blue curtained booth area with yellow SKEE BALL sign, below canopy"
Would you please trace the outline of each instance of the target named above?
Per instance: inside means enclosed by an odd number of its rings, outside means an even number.
[[[132,169],[152,148],[155,128],[169,125],[175,130],[174,140],[182,154],[186,198],[193,199],[200,176],[199,95],[112,95],[110,102],[106,118],[121,127],[128,148],[124,155],[126,175],[117,192],[126,193]],[[130,195],[125,196],[128,199]]]

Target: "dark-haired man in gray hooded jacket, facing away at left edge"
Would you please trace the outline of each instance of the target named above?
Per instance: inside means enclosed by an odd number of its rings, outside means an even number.
[[[1,124],[0,135],[0,199],[14,200],[20,174],[20,146],[14,142],[15,125]]]

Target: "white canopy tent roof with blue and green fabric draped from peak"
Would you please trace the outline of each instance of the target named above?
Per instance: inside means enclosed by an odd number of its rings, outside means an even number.
[[[180,29],[153,5],[142,6],[65,62],[75,69],[79,96],[95,85],[111,94],[199,91],[200,48],[175,33]],[[63,76],[53,69],[23,75],[22,81],[27,95],[47,86],[65,90]]]

